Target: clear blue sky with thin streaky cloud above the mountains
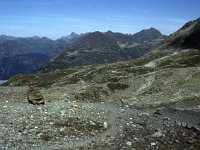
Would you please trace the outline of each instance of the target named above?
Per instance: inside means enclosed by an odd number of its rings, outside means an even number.
[[[170,34],[200,17],[200,0],[0,0],[0,34],[47,36],[93,31]]]

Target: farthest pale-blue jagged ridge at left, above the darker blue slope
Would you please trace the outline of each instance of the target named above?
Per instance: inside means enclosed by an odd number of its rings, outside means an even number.
[[[9,57],[18,54],[42,53],[48,56],[62,51],[67,44],[78,37],[74,32],[67,37],[62,37],[57,40],[52,40],[47,37],[12,37],[0,36],[0,57]]]

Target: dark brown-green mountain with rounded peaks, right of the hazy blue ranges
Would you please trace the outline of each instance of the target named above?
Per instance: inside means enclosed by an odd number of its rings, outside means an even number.
[[[82,35],[43,65],[42,71],[118,62],[138,58],[149,52],[166,36],[150,28],[136,34],[92,32]]]

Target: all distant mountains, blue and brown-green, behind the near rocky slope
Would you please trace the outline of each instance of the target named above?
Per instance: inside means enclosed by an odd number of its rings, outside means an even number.
[[[2,35],[0,79],[32,73],[38,69],[52,71],[135,59],[149,52],[165,37],[154,28],[133,35],[112,31],[81,35],[72,32],[57,40],[38,36],[20,38]],[[41,64],[44,65],[40,67]]]

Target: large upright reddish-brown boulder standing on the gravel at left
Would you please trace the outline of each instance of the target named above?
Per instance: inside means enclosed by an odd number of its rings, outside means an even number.
[[[38,87],[30,87],[27,91],[28,102],[35,104],[44,104],[44,98]]]

